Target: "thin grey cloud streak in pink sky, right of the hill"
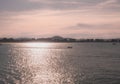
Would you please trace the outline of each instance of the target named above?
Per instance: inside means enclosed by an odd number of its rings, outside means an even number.
[[[78,23],[74,26],[69,26],[66,29],[69,30],[82,30],[82,31],[118,31],[120,30],[119,22],[115,23],[97,23],[97,24],[88,24],[88,23]],[[119,31],[120,32],[120,31]]]

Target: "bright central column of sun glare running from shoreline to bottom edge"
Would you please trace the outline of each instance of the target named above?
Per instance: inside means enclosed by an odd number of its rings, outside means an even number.
[[[51,73],[51,53],[49,48],[53,45],[51,43],[24,43],[29,72],[32,74],[31,84],[48,84],[48,81],[53,78]],[[53,56],[53,55],[52,55]]]

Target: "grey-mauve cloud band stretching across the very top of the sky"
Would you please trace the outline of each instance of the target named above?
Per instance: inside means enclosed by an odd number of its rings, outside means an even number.
[[[36,9],[81,10],[119,7],[118,0],[0,0],[0,11],[27,11]]]

